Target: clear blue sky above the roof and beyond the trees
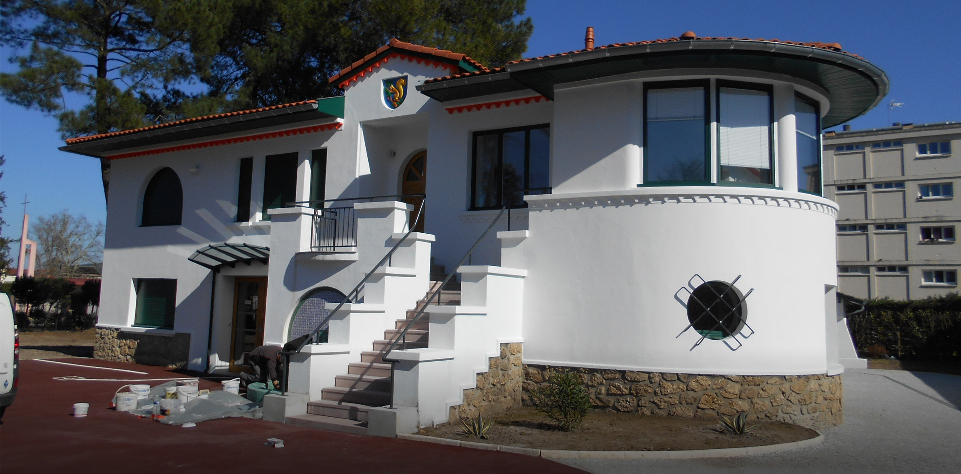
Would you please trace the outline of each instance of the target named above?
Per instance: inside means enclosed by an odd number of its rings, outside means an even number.
[[[891,81],[891,91],[855,129],[891,122],[961,121],[961,60],[957,19],[961,2],[844,1],[551,1],[529,0],[534,24],[525,57],[583,48],[584,29],[594,27],[596,44],[679,36],[735,36],[840,43],[873,62]],[[6,58],[8,51],[0,50]],[[0,71],[13,67],[0,61]],[[307,98],[305,98],[307,99]],[[903,107],[889,110],[891,102]],[[889,118],[890,116],[890,118]],[[5,237],[18,237],[24,195],[32,219],[62,209],[89,221],[106,220],[99,165],[93,158],[65,154],[57,123],[36,111],[0,101],[0,191],[7,194]]]

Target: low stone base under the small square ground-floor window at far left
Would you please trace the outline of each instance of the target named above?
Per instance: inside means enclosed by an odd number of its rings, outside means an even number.
[[[185,367],[190,352],[190,335],[156,336],[97,328],[93,357],[105,361],[144,366]]]

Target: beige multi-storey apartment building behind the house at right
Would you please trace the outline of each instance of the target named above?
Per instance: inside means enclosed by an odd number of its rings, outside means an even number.
[[[923,299],[957,292],[961,123],[824,136],[825,198],[838,215],[838,291]]]

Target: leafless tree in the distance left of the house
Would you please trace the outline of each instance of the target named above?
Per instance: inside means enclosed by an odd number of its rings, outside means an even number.
[[[31,229],[37,241],[37,269],[49,276],[71,278],[90,273],[103,261],[104,225],[91,225],[86,217],[62,210],[37,219]],[[86,272],[85,272],[86,270]]]

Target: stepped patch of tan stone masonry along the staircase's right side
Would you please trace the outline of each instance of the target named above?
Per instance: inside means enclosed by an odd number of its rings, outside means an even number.
[[[459,423],[477,415],[501,415],[520,407],[524,383],[522,351],[522,344],[501,344],[501,355],[488,359],[488,370],[478,374],[477,388],[464,391],[464,403],[451,407],[450,422]]]

